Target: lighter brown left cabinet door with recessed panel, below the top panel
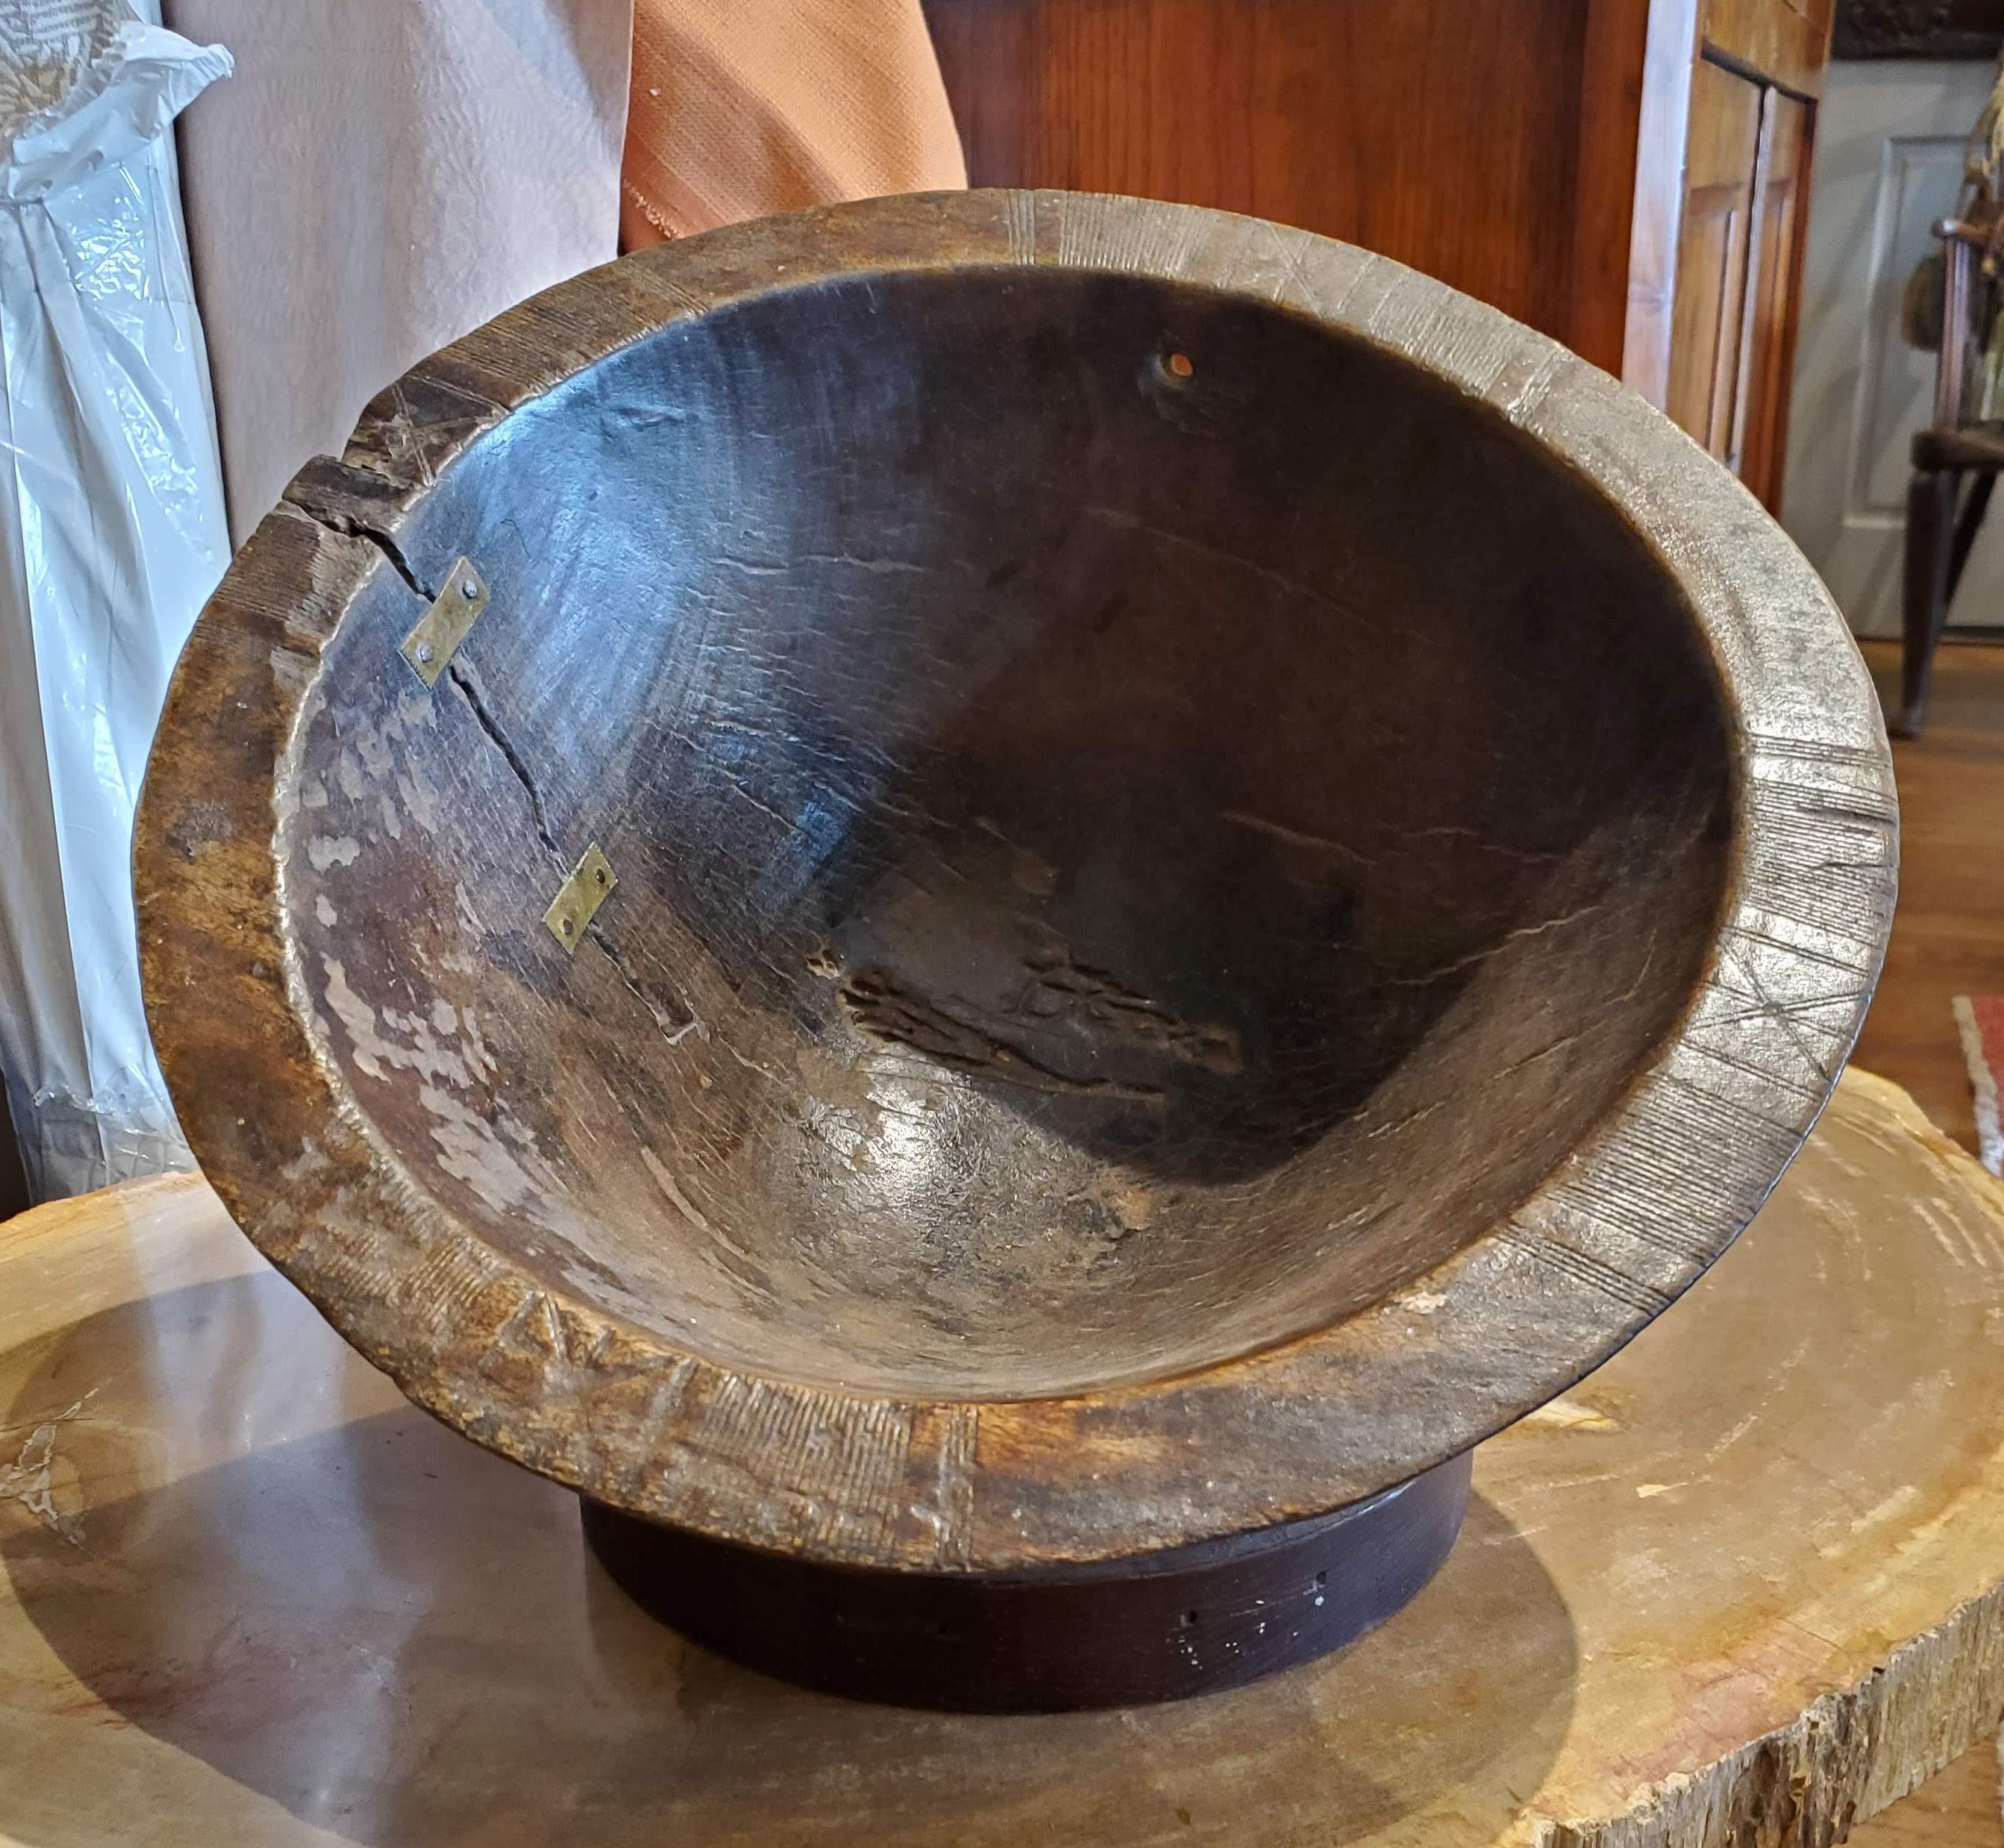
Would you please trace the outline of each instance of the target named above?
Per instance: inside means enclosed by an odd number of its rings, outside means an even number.
[[[1707,58],[1691,70],[1663,409],[1721,461],[1733,459],[1739,425],[1762,94],[1760,84]]]

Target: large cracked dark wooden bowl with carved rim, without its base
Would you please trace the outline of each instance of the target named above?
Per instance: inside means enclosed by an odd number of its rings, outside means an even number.
[[[988,1581],[1605,1359],[1822,1108],[1896,824],[1822,585],[1611,379],[1325,239],[976,192],[409,373],[202,615],[136,856],[204,1171],[413,1399]]]

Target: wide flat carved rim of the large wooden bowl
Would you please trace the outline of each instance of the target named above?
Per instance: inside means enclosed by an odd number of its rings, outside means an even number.
[[[1597,1126],[1517,1213],[1367,1311],[1178,1377],[1044,1399],[733,1371],[531,1277],[367,1126],[289,986],[283,772],[321,647],[385,573],[411,581],[399,531],[513,411],[752,297],[1022,267],[1305,317],[1487,403],[1577,471],[1681,585],[1717,665],[1735,734],[1725,902],[1685,1014]],[[1822,1112],[1878,978],[1896,864],[1892,760],[1844,619],[1745,487],[1641,397],[1351,245],[1198,206],[1002,190],[669,243],[421,361],[236,555],[176,667],[134,830],[148,1020],[202,1171],[415,1403],[629,1513],[832,1563],[984,1573],[1363,1501],[1605,1361],[1725,1251]]]

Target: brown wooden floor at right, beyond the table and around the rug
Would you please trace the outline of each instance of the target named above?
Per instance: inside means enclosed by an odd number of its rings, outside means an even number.
[[[1868,643],[1890,694],[1900,651]],[[2004,647],[1944,647],[1926,734],[1894,744],[1900,910],[1858,1062],[1904,1084],[1966,1148],[1970,1080],[1948,1012],[1956,994],[2004,994]],[[2004,1848],[1998,1750],[1952,1764],[1852,1832],[1856,1848]]]

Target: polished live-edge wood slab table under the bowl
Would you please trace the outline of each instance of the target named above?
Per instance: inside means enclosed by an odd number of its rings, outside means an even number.
[[[0,1842],[1812,1848],[2004,1714],[2000,1285],[2004,1189],[1854,1072],[1383,1630],[978,1720],[653,1626],[200,1181],[46,1207],[0,1225]]]

